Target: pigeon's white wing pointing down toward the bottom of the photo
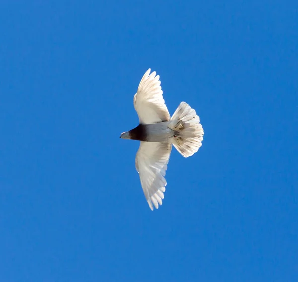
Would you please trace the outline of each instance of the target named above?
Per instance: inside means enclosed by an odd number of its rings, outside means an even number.
[[[170,143],[140,142],[136,155],[136,170],[151,210],[153,205],[155,208],[158,208],[158,204],[162,205],[166,186],[164,176],[171,150]]]

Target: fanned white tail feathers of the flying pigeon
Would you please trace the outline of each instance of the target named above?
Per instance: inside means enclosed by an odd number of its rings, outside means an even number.
[[[187,103],[180,103],[168,127],[175,131],[172,143],[183,157],[192,156],[202,146],[204,131],[200,118]]]

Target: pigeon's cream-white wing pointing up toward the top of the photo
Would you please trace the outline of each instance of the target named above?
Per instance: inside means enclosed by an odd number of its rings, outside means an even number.
[[[134,96],[134,107],[142,124],[169,121],[170,114],[162,97],[159,76],[149,69],[140,81]],[[149,75],[150,74],[150,75]]]

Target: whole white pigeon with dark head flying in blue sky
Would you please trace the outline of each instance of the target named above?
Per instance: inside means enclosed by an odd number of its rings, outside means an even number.
[[[140,141],[135,166],[150,209],[158,209],[164,199],[165,174],[172,145],[185,158],[198,151],[203,141],[203,127],[196,111],[181,102],[170,116],[161,89],[160,76],[148,69],[143,75],[134,108],[139,125],[121,133],[121,139]]]

